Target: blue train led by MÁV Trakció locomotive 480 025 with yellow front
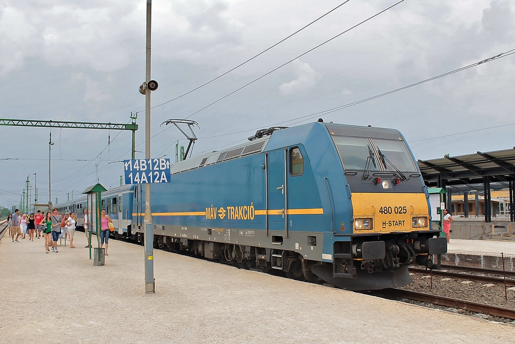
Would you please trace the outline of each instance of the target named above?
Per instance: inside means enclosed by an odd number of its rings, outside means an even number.
[[[351,290],[409,284],[409,265],[433,268],[433,255],[447,252],[397,130],[274,129],[177,162],[170,183],[153,184],[155,245]],[[125,200],[132,222],[117,231],[142,242],[145,188]]]

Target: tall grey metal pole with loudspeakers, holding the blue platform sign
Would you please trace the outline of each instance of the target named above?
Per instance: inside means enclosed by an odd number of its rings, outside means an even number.
[[[147,0],[147,45],[145,83],[150,81],[150,28],[152,0]],[[145,158],[150,159],[150,90],[145,91]],[[153,229],[150,211],[150,183],[145,184],[145,293],[155,293],[153,264]]]

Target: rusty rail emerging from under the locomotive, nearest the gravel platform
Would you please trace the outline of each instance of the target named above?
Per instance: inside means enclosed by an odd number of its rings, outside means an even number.
[[[491,316],[508,318],[515,320],[515,309],[504,308],[499,306],[487,305],[483,303],[477,303],[472,301],[465,301],[459,299],[452,299],[434,294],[421,293],[416,291],[409,291],[403,289],[383,289],[377,293],[373,293],[375,296],[384,296],[393,299],[409,299],[420,302],[428,302],[445,307],[453,307],[468,310],[469,312],[489,314]]]

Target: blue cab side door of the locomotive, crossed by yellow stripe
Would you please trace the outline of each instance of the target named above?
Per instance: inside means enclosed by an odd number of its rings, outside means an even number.
[[[283,235],[288,237],[287,233],[277,233],[277,231],[286,231],[287,223],[286,153],[286,149],[271,151],[268,153],[266,164],[268,173],[268,229],[275,232],[272,233],[272,241],[281,241],[281,243]]]

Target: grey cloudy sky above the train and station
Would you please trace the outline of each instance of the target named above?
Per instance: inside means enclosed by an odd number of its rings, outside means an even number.
[[[393,127],[417,159],[515,145],[515,55],[338,111],[515,49],[509,0],[152,1],[151,156],[187,145],[170,118],[199,123],[194,154],[240,143],[258,128],[324,121]],[[127,123],[138,113],[144,157],[145,0],[2,0],[0,118]],[[352,29],[350,29],[352,28]],[[350,30],[349,30],[350,29]],[[345,34],[314,47],[349,30]],[[164,104],[166,103],[166,104]],[[163,105],[162,105],[163,104]],[[279,124],[280,123],[280,124]],[[493,128],[492,128],[493,127]],[[163,129],[166,129],[163,132]],[[0,126],[0,205],[18,205],[27,176],[48,201],[48,128]],[[465,134],[464,134],[465,133]],[[109,143],[110,137],[110,144]],[[52,200],[119,185],[131,132],[52,130]]]

